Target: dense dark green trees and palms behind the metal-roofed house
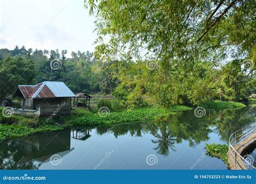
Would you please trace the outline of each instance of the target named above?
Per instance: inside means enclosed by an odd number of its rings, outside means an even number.
[[[47,50],[28,50],[23,46],[14,50],[0,49],[0,101],[14,93],[18,84],[36,84],[43,81],[63,81],[74,93],[111,93],[118,82],[113,79],[111,63],[96,62],[90,52],[59,53]],[[58,69],[51,69],[57,60]]]

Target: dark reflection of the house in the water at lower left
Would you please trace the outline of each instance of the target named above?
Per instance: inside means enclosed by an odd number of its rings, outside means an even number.
[[[0,147],[2,169],[38,169],[44,162],[49,162],[53,154],[64,157],[73,150],[70,148],[70,130],[8,140]]]

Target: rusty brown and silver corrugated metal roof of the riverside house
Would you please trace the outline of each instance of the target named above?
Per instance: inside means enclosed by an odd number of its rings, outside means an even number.
[[[64,82],[45,81],[35,86],[19,85],[18,89],[25,98],[74,97],[75,94]]]

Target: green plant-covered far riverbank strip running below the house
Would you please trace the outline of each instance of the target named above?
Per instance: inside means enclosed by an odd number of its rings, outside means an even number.
[[[203,105],[202,105],[203,106]],[[205,108],[214,109],[238,109],[246,105],[238,102],[220,102],[214,101],[205,104]],[[42,131],[61,130],[65,127],[118,124],[123,122],[143,122],[143,121],[166,121],[172,114],[180,111],[192,110],[192,107],[184,105],[174,105],[170,108],[163,107],[145,107],[138,109],[128,109],[123,111],[107,111],[102,113],[93,113],[84,108],[73,108],[70,117],[59,118],[26,118],[12,115],[3,117],[0,115],[0,140],[12,139],[15,137],[29,136],[33,133]],[[2,109],[0,108],[2,111]],[[62,126],[56,125],[61,123]]]

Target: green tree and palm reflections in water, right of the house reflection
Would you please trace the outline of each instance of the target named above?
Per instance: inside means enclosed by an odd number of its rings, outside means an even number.
[[[246,108],[240,110],[206,110],[206,115],[201,118],[194,116],[193,111],[185,111],[172,115],[169,121],[165,123],[135,122],[100,126],[96,129],[99,135],[113,133],[115,137],[127,133],[131,136],[140,137],[143,133],[150,132],[157,138],[152,140],[152,143],[158,144],[154,150],[158,150],[159,154],[168,155],[169,148],[174,150],[175,143],[182,143],[186,140],[190,146],[194,146],[201,141],[208,140],[208,135],[213,131],[219,133],[221,139],[227,141],[231,133],[253,121],[255,113],[251,112],[250,116],[237,123],[238,118],[247,110]],[[211,126],[216,126],[216,128],[212,130]]]

